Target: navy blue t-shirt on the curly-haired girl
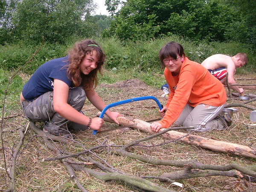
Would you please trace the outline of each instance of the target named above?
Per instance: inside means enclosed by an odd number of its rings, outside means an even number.
[[[63,67],[68,64],[67,58],[68,56],[61,57],[42,64],[23,86],[23,97],[32,101],[46,92],[53,91],[53,79],[61,80],[67,83],[70,89],[73,88],[72,80],[67,77],[67,68]]]

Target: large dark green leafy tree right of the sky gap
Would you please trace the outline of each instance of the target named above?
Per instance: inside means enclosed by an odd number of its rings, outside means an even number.
[[[117,2],[106,0],[108,10],[116,11]],[[123,40],[178,34],[225,41],[232,39],[230,29],[240,29],[244,22],[237,11],[218,0],[127,0],[122,4],[105,34]]]

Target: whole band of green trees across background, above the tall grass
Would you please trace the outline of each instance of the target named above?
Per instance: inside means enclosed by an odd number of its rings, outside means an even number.
[[[254,0],[105,0],[111,17],[92,16],[93,0],[2,0],[0,44],[65,43],[70,37],[149,40],[179,35],[193,41],[236,41],[256,47]],[[121,9],[119,9],[122,7]],[[109,27],[110,26],[110,27]]]

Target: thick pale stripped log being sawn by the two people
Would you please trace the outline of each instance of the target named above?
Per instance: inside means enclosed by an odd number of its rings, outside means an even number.
[[[107,116],[104,115],[103,120],[107,122],[113,123],[112,120],[110,120]],[[156,132],[153,132],[150,129],[150,123],[145,122],[140,119],[136,118],[130,118],[130,117],[117,117],[117,120],[120,125],[131,125],[137,123],[137,125],[133,125],[131,127],[135,129],[140,129],[142,131],[155,134]],[[160,129],[160,131],[163,131],[164,129]],[[234,155],[240,155],[244,157],[250,157],[250,158],[256,158],[256,148],[255,147],[249,147],[249,146],[243,146],[235,143],[229,143],[225,141],[219,141],[219,140],[213,140],[209,138],[204,138],[198,135],[187,135],[186,133],[177,132],[177,131],[169,131],[162,135],[163,138],[171,139],[171,140],[177,140],[187,143],[189,145],[194,146],[200,146],[206,149],[211,149],[213,151],[217,152],[224,152],[228,154],[234,154]]]

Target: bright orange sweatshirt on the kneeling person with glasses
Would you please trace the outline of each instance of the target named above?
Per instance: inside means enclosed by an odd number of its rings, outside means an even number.
[[[185,57],[180,74],[173,77],[165,68],[164,77],[168,83],[170,94],[166,103],[167,111],[162,120],[158,121],[163,128],[168,128],[177,120],[185,107],[198,104],[221,106],[226,102],[227,95],[222,83],[199,63]]]

